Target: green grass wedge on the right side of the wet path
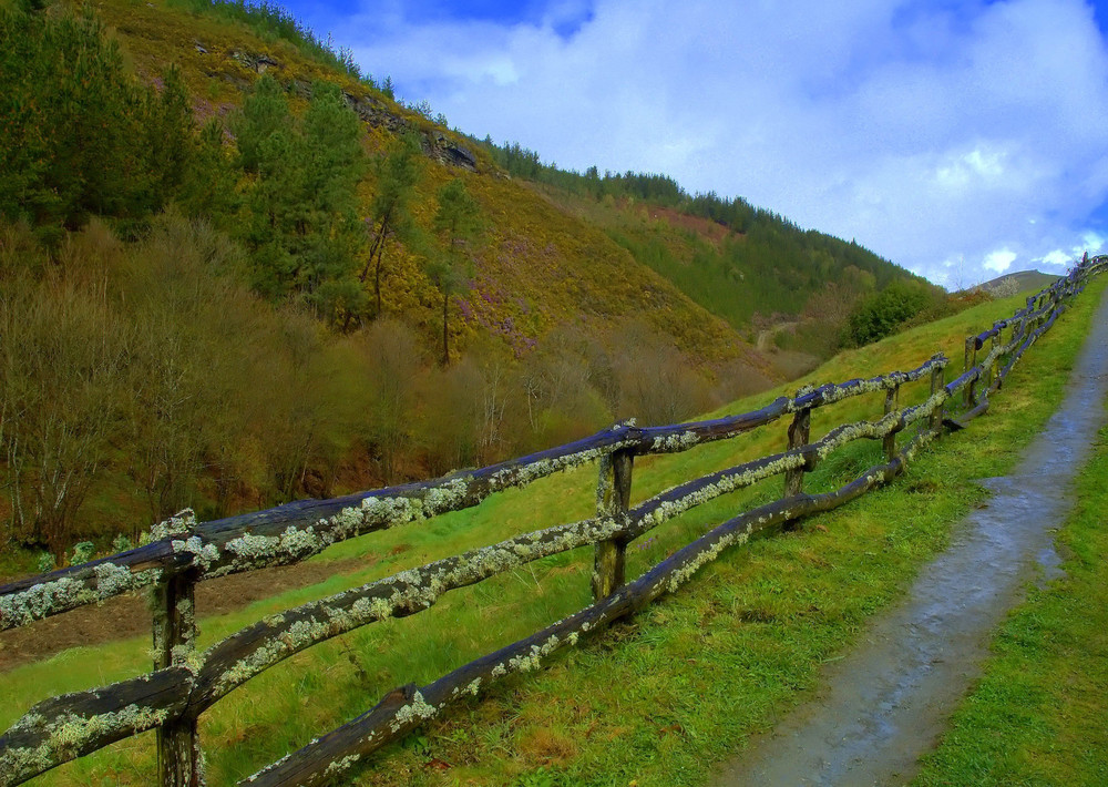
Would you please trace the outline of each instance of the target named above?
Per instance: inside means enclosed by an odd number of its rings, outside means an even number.
[[[1108,428],[1056,543],[1065,578],[1033,587],[914,784],[1108,784]]]

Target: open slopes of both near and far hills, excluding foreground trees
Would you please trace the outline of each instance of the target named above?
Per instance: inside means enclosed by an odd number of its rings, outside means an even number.
[[[182,13],[206,3],[165,2],[134,7],[101,0],[98,8],[144,80],[156,80],[166,62],[181,65],[199,120],[233,112],[257,73],[271,74],[301,95],[312,80],[337,80],[365,121],[375,152],[398,131],[422,135],[424,152],[441,168],[427,172],[417,202],[431,203],[433,188],[456,170],[475,175],[469,183],[493,229],[476,259],[475,286],[458,296],[462,344],[492,333],[519,352],[553,325],[581,316],[611,324],[635,314],[700,360],[741,358],[758,367],[747,347],[689,300],[749,340],[756,317],[800,315],[829,285],[862,294],[894,279],[922,282],[853,242],[801,231],[740,198],[694,197],[665,176],[558,171],[519,146],[505,157],[501,147],[449,130],[445,119],[432,120],[429,108],[397,104],[367,90],[366,80],[321,68],[285,41],[259,40],[240,24],[211,18],[208,8]],[[365,191],[371,188],[372,183]],[[548,204],[536,202],[535,192]],[[557,260],[556,275],[551,260]],[[391,308],[410,315],[433,304],[419,274],[418,265],[394,273],[401,292]],[[418,321],[430,330],[434,319],[421,313]]]

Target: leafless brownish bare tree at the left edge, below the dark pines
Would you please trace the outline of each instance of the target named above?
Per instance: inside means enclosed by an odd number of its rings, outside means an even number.
[[[61,560],[123,417],[134,330],[64,274],[0,297],[4,486],[14,535]]]

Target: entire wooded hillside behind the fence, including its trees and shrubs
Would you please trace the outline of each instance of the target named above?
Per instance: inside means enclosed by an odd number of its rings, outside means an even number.
[[[678,421],[786,376],[763,321],[825,356],[933,295],[664,176],[522,172],[274,6],[0,9],[0,572]]]

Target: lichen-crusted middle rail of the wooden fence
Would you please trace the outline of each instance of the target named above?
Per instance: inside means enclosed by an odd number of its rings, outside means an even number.
[[[942,368],[945,364],[945,358],[936,356],[929,361],[929,368]],[[0,752],[11,747],[37,752],[34,767],[39,770],[31,773],[27,768],[20,774],[20,778],[29,778],[144,729],[195,718],[255,675],[331,637],[388,617],[421,612],[451,590],[541,558],[616,536],[632,541],[697,505],[791,468],[804,467],[849,442],[882,440],[902,431],[927,419],[945,399],[945,392],[940,391],[920,405],[889,412],[878,421],[837,427],[813,443],[674,487],[619,518],[595,518],[525,533],[268,616],[184,664],[34,706],[9,730],[18,730],[18,735],[0,737]],[[137,719],[127,716],[131,707],[142,709]],[[58,745],[59,730],[74,723],[84,733],[79,745],[72,740],[65,746]]]

